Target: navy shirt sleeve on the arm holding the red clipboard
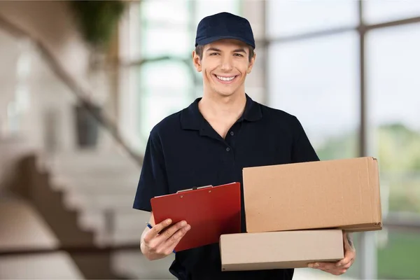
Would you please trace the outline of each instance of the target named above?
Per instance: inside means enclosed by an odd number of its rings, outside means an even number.
[[[165,159],[162,144],[156,132],[151,132],[144,153],[143,166],[136,195],[134,209],[152,211],[151,198],[169,193]]]

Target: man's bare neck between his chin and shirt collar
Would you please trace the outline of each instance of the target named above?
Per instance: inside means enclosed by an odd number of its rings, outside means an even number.
[[[228,121],[236,121],[244,113],[245,105],[245,92],[238,92],[230,97],[204,93],[198,104],[200,112],[207,120]]]

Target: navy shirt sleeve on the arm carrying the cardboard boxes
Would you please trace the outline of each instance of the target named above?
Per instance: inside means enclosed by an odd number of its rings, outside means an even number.
[[[295,118],[295,130],[293,137],[292,148],[292,162],[314,162],[318,161],[318,155],[314,150],[311,142],[309,141],[306,132],[297,118]]]

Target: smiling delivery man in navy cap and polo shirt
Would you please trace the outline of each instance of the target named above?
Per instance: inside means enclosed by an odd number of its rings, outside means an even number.
[[[151,211],[152,197],[182,189],[242,183],[244,167],[318,160],[295,116],[258,104],[245,93],[245,78],[255,62],[255,42],[248,20],[230,13],[204,18],[197,27],[195,46],[193,63],[202,73],[203,96],[153,127],[135,209]],[[243,201],[242,197],[242,205]],[[242,207],[243,232],[244,215]],[[145,228],[141,235],[141,252],[149,260],[165,258],[190,229],[187,222],[172,225],[167,220],[155,225],[151,213],[153,228]],[[355,252],[350,239],[344,240],[342,261],[310,266],[332,274],[345,272]],[[221,272],[218,244],[176,253],[169,271],[178,279],[188,280],[293,277],[293,269]]]

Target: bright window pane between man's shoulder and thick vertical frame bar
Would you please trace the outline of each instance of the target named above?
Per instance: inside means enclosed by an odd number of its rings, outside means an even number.
[[[269,46],[269,103],[301,121],[322,159],[357,155],[358,36]]]

